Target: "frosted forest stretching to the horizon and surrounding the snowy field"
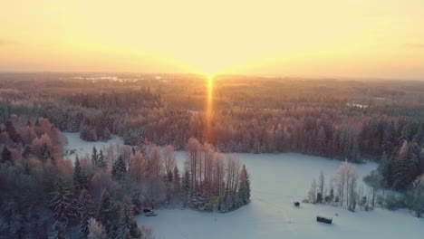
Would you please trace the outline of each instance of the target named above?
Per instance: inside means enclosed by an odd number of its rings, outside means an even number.
[[[424,213],[424,83],[217,78],[211,119],[198,75],[0,74],[0,238],[154,238],[143,208],[226,213],[250,202],[236,153],[344,161],[310,203]],[[402,87],[400,87],[402,85]],[[331,87],[330,87],[331,86]],[[376,90],[377,89],[377,90]],[[207,127],[210,121],[210,127]],[[61,132],[125,147],[63,157]],[[184,167],[176,151],[184,150]],[[379,167],[359,188],[352,163]],[[390,190],[379,199],[379,192]]]

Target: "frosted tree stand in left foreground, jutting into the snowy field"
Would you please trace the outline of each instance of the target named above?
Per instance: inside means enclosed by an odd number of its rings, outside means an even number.
[[[5,238],[152,238],[133,218],[143,208],[228,212],[249,203],[246,167],[197,139],[188,140],[181,173],[170,145],[92,148],[72,165],[60,131],[43,118],[12,116],[0,140]]]

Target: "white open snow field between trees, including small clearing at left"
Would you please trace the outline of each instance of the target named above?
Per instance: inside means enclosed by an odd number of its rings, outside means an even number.
[[[84,142],[78,134],[68,137],[65,149],[80,148],[82,154],[91,153],[92,146],[121,144],[119,138],[108,142]],[[80,153],[79,153],[80,154]],[[340,207],[301,204],[320,170],[328,177],[334,175],[341,162],[301,154],[239,154],[252,180],[252,202],[228,213],[203,213],[190,209],[158,210],[158,216],[137,216],[139,225],[154,229],[157,239],[208,238],[421,238],[424,220],[408,212],[376,209],[356,213]],[[178,166],[182,169],[185,153],[178,152]],[[360,177],[367,175],[376,164],[357,165]],[[335,214],[338,214],[336,216]],[[332,225],[315,221],[316,215],[333,218]]]

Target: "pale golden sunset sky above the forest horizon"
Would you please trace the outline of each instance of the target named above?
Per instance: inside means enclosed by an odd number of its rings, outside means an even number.
[[[0,71],[424,80],[424,1],[0,0]]]

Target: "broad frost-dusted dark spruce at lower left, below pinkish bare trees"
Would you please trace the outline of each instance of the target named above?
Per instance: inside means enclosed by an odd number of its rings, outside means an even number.
[[[53,219],[57,226],[63,225],[66,227],[72,216],[75,216],[75,207],[72,204],[72,194],[64,186],[62,178],[59,178],[55,183],[55,190],[52,193],[52,200],[49,206],[53,209]]]

